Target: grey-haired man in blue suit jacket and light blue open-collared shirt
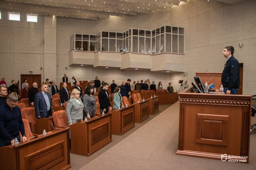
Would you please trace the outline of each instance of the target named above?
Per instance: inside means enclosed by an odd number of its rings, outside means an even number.
[[[52,115],[51,95],[48,93],[48,85],[41,86],[41,92],[35,95],[35,116],[40,118],[49,117]]]

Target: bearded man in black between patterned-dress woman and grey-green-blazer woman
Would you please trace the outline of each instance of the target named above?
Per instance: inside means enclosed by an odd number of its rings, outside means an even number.
[[[104,111],[105,113],[107,113],[108,111],[112,110],[112,107],[111,107],[110,101],[109,101],[109,94],[107,92],[108,84],[103,83],[102,87],[103,88],[101,89],[101,91],[98,94],[99,104],[100,104],[101,112]],[[108,107],[110,110],[108,110]]]

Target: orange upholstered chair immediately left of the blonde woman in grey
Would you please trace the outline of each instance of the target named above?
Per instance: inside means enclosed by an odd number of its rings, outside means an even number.
[[[55,129],[68,127],[68,117],[65,110],[54,111],[52,115]]]

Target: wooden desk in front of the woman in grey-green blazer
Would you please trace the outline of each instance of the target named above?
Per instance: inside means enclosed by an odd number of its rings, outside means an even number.
[[[134,105],[127,108],[112,110],[111,125],[112,134],[122,135],[135,127],[134,125]]]

